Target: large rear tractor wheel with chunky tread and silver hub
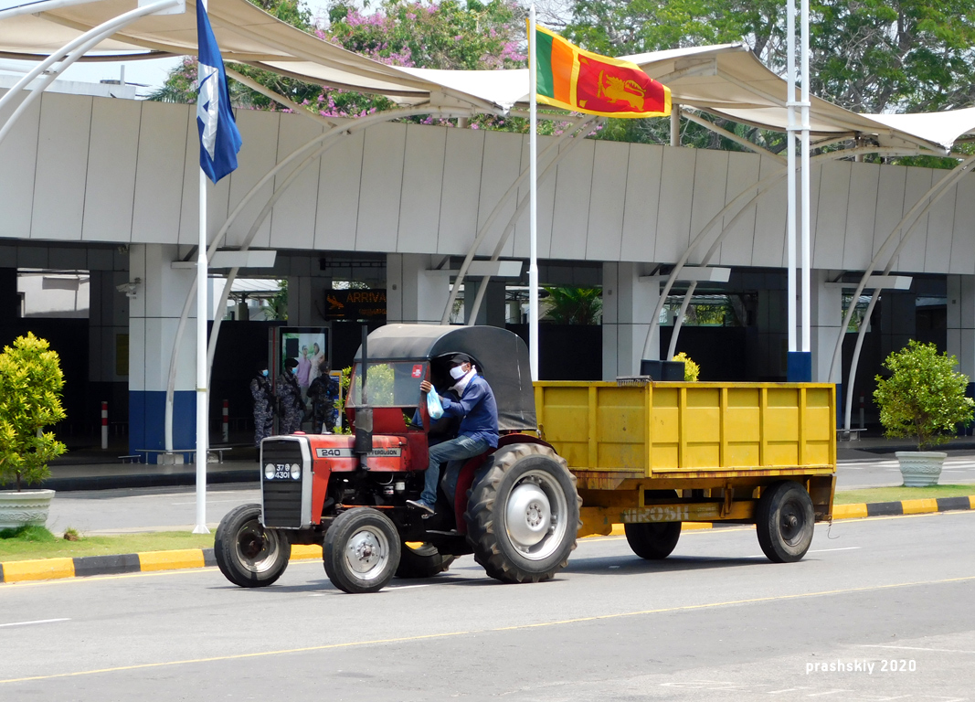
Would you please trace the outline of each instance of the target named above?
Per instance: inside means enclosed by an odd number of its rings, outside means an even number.
[[[575,476],[539,444],[513,444],[493,459],[464,514],[474,560],[503,582],[548,580],[568,563],[581,526]]]

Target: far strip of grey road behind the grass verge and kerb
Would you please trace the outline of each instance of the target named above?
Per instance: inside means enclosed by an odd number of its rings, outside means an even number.
[[[838,489],[899,486],[897,460],[878,457],[841,460]],[[975,484],[975,455],[952,455],[941,477],[944,485]],[[973,486],[975,492],[975,486]],[[217,485],[208,489],[207,522],[215,528],[224,514],[239,504],[259,502],[256,484]],[[167,487],[59,492],[51,503],[48,527],[55,532],[72,526],[83,533],[190,530],[196,523],[193,487]]]

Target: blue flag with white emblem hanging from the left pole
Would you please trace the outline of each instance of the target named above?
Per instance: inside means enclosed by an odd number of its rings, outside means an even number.
[[[200,130],[200,168],[216,182],[237,168],[241,133],[230,109],[230,90],[223,57],[202,0],[196,3],[197,64],[196,126]]]

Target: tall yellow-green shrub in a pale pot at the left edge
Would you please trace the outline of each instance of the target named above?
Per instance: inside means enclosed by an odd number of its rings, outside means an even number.
[[[64,375],[46,340],[27,332],[0,353],[0,528],[43,525],[54,490],[24,489],[51,475],[48,461],[65,448],[44,427],[64,418]]]

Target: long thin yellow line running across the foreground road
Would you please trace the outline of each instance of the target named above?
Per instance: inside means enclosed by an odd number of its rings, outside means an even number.
[[[408,643],[419,641],[430,641],[433,639],[450,639],[461,636],[477,634],[494,634],[498,632],[526,631],[528,629],[543,629],[548,627],[566,626],[568,624],[581,624],[588,622],[603,621],[606,619],[625,619],[630,617],[646,616],[649,614],[668,614],[673,612],[699,611],[703,609],[715,609],[718,607],[738,606],[741,604],[760,604],[770,602],[787,602],[790,600],[809,600],[817,597],[830,597],[834,595],[848,595],[851,593],[877,592],[880,590],[891,590],[894,588],[919,587],[922,585],[946,585],[957,582],[971,582],[975,580],[975,575],[966,575],[956,578],[945,578],[943,580],[917,580],[914,582],[889,583],[887,585],[871,585],[844,590],[823,590],[813,593],[798,593],[795,595],[773,595],[763,598],[751,598],[748,600],[728,600],[718,603],[704,604],[681,604],[672,607],[662,607],[660,609],[642,609],[630,612],[616,612],[613,614],[594,614],[592,616],[575,617],[572,619],[557,619],[548,622],[538,622],[535,624],[516,624],[514,626],[497,627],[493,629],[473,629],[470,631],[444,632],[442,634],[420,634],[417,636],[398,637],[393,639],[371,639],[359,642],[345,643],[324,643],[322,645],[304,646],[301,648],[282,648],[279,650],[256,651],[254,653],[234,653],[230,655],[211,656],[209,658],[188,658],[186,660],[163,661],[160,663],[137,663],[129,666],[118,666],[115,668],[99,668],[97,670],[76,671],[74,673],[55,673],[53,675],[29,676],[25,678],[11,678],[0,680],[0,684],[6,683],[26,683],[30,681],[46,681],[59,678],[77,678],[79,676],[99,675],[104,673],[120,673],[132,670],[147,670],[150,668],[167,668],[178,665],[190,665],[198,663],[214,663],[217,661],[244,660],[247,658],[264,658],[267,656],[287,655],[291,653],[308,653],[311,651],[333,650],[339,648],[358,648],[367,645],[379,645],[385,643]]]

